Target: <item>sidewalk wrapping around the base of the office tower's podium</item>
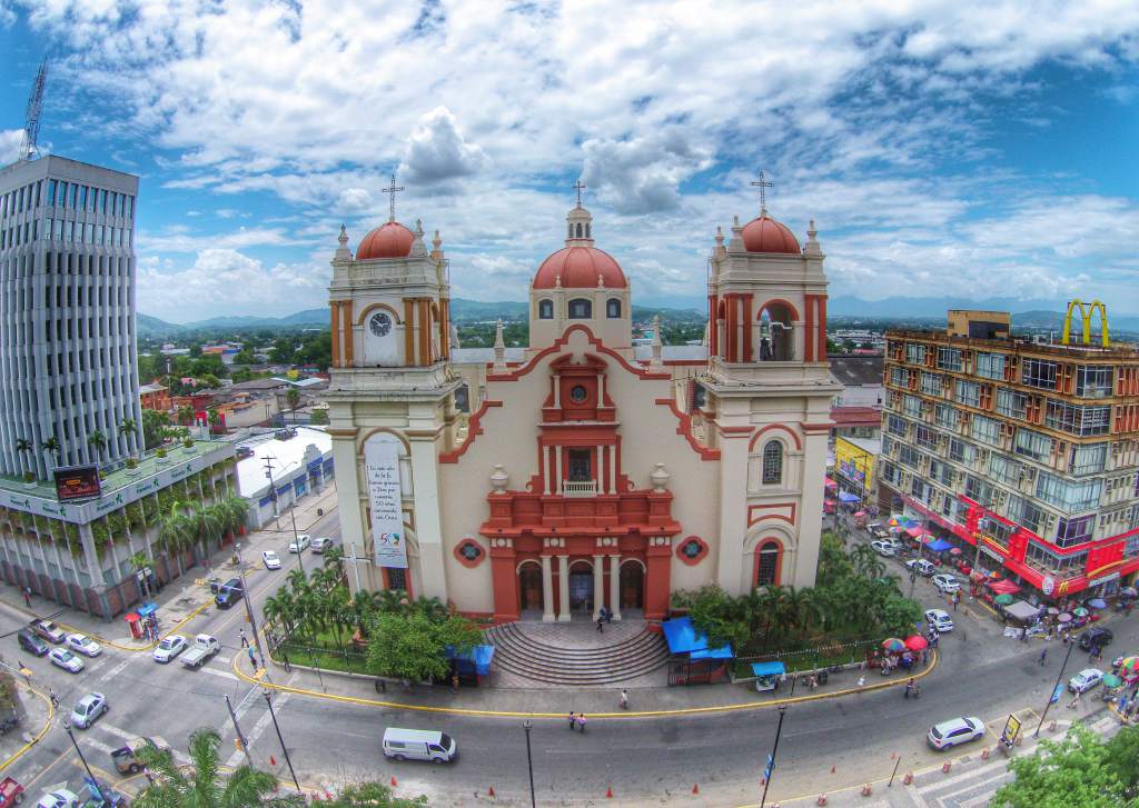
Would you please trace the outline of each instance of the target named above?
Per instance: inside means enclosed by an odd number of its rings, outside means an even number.
[[[325,516],[336,509],[336,484],[335,481],[326,486],[318,496],[305,497],[296,505],[297,531],[309,530],[323,516],[318,516],[317,510],[322,509]],[[280,522],[278,527],[277,522]],[[293,523],[288,512],[281,514],[279,520],[271,521],[264,529],[253,530],[245,536],[238,537],[238,545],[241,549],[241,567],[248,571],[253,569],[262,545],[272,542],[276,544],[286,536],[292,537]],[[207,609],[213,603],[213,594],[210,592],[211,580],[226,580],[239,574],[240,568],[232,561],[233,549],[226,547],[214,553],[208,559],[208,567],[191,567],[166,584],[159,592],[154,593],[149,599],[158,605],[158,630],[159,634],[169,634],[182,623],[195,617]],[[0,582],[0,603],[14,611],[22,612],[31,620],[33,617],[54,619],[65,632],[79,632],[93,637],[97,642],[123,651],[147,651],[154,648],[154,643],[144,640],[134,640],[126,621],[120,615],[114,620],[107,621],[93,617],[87,612],[77,611],[60,605],[55,601],[44,597],[32,596],[31,608],[25,605],[24,595],[19,587]],[[138,604],[134,604],[137,608]]]

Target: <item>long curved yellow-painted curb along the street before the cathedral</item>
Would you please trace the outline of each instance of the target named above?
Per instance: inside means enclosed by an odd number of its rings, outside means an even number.
[[[901,677],[898,679],[890,679],[888,682],[878,682],[876,684],[867,684],[862,687],[850,687],[846,690],[835,691],[834,693],[818,693],[814,695],[796,695],[785,699],[771,699],[769,701],[748,701],[739,704],[714,704],[708,707],[683,707],[672,710],[640,710],[640,711],[621,711],[621,712],[595,712],[590,715],[590,718],[620,718],[620,719],[638,719],[638,718],[664,718],[669,716],[691,716],[702,714],[718,714],[718,712],[738,712],[741,710],[762,710],[772,707],[780,707],[786,704],[801,704],[811,701],[822,701],[825,699],[835,699],[843,695],[851,695],[854,693],[869,693],[877,690],[886,690],[888,687],[900,687],[903,686],[909,679],[920,679],[925,678],[934,671],[937,667],[939,654],[937,650],[933,650],[933,659],[926,669],[921,673],[915,674],[913,676]],[[270,690],[276,690],[281,693],[293,693],[294,695],[305,695],[314,699],[327,699],[329,701],[339,701],[346,704],[361,704],[364,707],[379,707],[385,709],[395,710],[415,710],[417,712],[433,712],[439,715],[450,715],[450,716],[476,716],[486,718],[556,718],[558,720],[565,720],[565,712],[523,712],[515,710],[476,710],[461,707],[436,707],[431,704],[407,704],[399,701],[384,701],[380,699],[364,699],[362,696],[355,695],[339,695],[336,693],[322,693],[320,691],[308,690],[305,687],[292,687],[289,685],[278,685],[273,682],[263,681],[256,676],[249,676],[244,670],[241,670],[239,663],[239,657],[233,656],[230,667],[233,674],[247,684],[265,687]],[[296,666],[293,666],[296,667]],[[323,671],[323,668],[321,668]],[[260,673],[267,673],[265,668],[261,668]]]

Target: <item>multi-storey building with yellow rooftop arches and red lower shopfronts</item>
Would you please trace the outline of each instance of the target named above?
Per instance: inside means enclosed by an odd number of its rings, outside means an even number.
[[[1109,594],[1139,569],[1139,351],[1009,333],[998,312],[887,332],[882,504],[1035,596]]]

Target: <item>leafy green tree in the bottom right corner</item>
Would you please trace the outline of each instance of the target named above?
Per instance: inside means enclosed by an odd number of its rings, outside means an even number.
[[[1063,741],[1041,741],[1033,755],[1009,762],[1015,780],[997,790],[990,805],[1001,808],[1137,808],[1128,799],[1105,744],[1082,724]]]

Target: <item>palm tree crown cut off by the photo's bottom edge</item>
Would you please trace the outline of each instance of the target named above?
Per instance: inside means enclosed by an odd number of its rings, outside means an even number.
[[[172,752],[146,749],[142,762],[155,775],[132,805],[138,808],[270,808],[300,806],[295,797],[272,797],[277,778],[238,766],[223,777],[218,748],[221,735],[203,727],[190,735],[190,767],[182,769]]]

